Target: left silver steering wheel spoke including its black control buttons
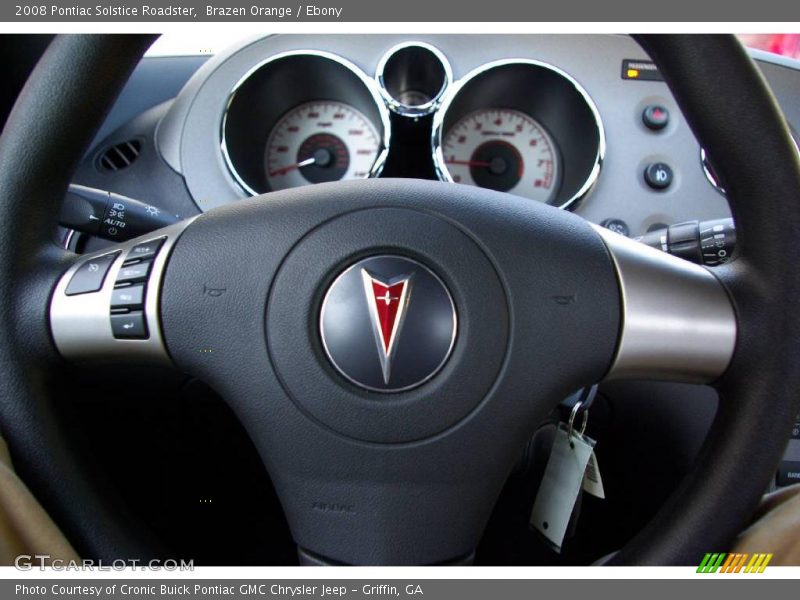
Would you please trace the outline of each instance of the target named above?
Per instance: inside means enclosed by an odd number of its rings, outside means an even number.
[[[50,300],[60,354],[76,363],[171,365],[161,330],[161,285],[170,252],[191,219],[82,256]]]

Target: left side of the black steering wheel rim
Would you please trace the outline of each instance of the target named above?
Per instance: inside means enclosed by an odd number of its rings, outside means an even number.
[[[25,482],[83,556],[147,558],[158,553],[122,509],[81,468],[54,415],[51,373],[61,361],[41,310],[54,273],[71,262],[53,240],[54,215],[94,131],[153,36],[56,37],[0,138],[2,434]],[[55,359],[55,360],[54,360]]]

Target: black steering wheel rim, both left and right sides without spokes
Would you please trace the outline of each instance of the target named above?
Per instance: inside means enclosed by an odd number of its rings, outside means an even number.
[[[689,564],[722,550],[752,513],[785,446],[800,397],[800,280],[788,243],[800,228],[800,168],[783,117],[732,36],[638,38],[662,70],[729,190],[738,256],[715,274],[737,312],[736,351],[718,381],[719,414],[695,468],[658,516],[613,560]],[[25,480],[87,556],[145,557],[53,419],[57,360],[44,307],[72,258],[51,240],[53,215],[94,131],[151,42],[147,36],[57,38],[0,139],[0,419]],[[758,131],[757,139],[741,131]],[[20,226],[24,224],[24,226]]]

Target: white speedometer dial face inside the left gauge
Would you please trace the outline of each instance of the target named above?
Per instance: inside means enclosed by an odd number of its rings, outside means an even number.
[[[264,168],[271,190],[369,177],[380,151],[375,126],[352,106],[301,104],[278,121],[267,139]]]

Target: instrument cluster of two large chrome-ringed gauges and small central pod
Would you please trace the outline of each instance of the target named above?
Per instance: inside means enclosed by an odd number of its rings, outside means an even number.
[[[505,59],[453,81],[447,57],[423,42],[388,50],[373,76],[329,52],[267,58],[230,92],[221,150],[257,195],[378,177],[390,153],[410,151],[392,145],[392,129],[409,126],[428,127],[427,147],[413,151],[429,154],[439,179],[561,208],[591,190],[605,152],[599,112],[568,73]]]

